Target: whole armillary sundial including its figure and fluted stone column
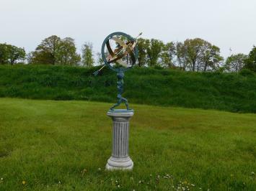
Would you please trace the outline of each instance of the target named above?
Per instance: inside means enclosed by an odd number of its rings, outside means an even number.
[[[138,35],[138,37],[141,34]],[[134,111],[129,108],[127,99],[122,97],[125,71],[136,64],[138,47],[136,39],[123,32],[108,35],[102,43],[102,59],[105,66],[118,75],[118,102],[110,108],[107,116],[112,118],[112,155],[107,160],[106,169],[133,169],[133,161],[128,155],[129,121]],[[102,70],[102,68],[100,70]],[[100,70],[94,72],[97,75]],[[125,103],[126,109],[115,109]]]

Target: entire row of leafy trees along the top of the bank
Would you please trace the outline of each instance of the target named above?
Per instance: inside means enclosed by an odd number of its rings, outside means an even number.
[[[139,67],[167,67],[186,71],[238,72],[247,68],[256,72],[256,47],[248,55],[231,55],[224,60],[220,48],[204,39],[186,39],[184,42],[164,43],[159,39],[138,39]],[[96,59],[94,59],[96,57]],[[43,39],[35,51],[26,54],[24,48],[0,44],[0,64],[20,62],[43,65],[102,65],[100,52],[93,54],[92,43],[82,45],[81,55],[76,52],[74,39],[56,35]]]

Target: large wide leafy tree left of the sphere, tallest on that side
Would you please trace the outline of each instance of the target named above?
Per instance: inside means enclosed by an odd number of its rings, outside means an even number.
[[[50,36],[37,46],[35,52],[30,53],[29,62],[50,65],[77,65],[81,60],[76,53],[74,39],[61,39],[56,35]]]

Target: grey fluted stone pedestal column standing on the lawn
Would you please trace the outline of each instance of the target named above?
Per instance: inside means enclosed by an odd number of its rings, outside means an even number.
[[[112,156],[107,160],[106,169],[133,169],[133,161],[128,155],[129,120],[133,110],[115,109],[108,111],[112,125]]]

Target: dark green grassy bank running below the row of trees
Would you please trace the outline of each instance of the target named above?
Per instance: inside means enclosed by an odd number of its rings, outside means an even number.
[[[48,100],[116,101],[116,76],[99,76],[84,67],[1,65],[0,97]],[[131,103],[256,112],[256,76],[241,73],[190,73],[133,68],[125,73],[125,98]]]

